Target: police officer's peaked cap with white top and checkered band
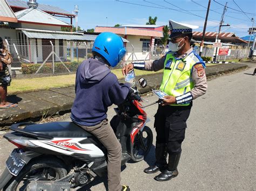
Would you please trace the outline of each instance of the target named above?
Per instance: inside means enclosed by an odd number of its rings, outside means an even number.
[[[177,37],[180,34],[192,33],[192,29],[198,29],[199,26],[178,23],[174,20],[169,20],[169,28],[171,31],[170,38]]]

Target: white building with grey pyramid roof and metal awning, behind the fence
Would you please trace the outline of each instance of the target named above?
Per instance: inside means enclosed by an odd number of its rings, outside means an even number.
[[[8,22],[8,25],[0,25],[0,36],[8,40],[10,51],[13,57],[17,58],[12,64],[14,68],[21,67],[21,63],[73,60],[75,52],[73,50],[78,47],[78,44],[93,41],[96,38],[83,33],[63,32],[62,27],[71,29],[72,25],[56,18],[53,13],[49,14],[38,9],[35,1],[29,1],[27,9],[17,12],[13,12],[4,0],[1,1],[8,8],[8,11],[5,11],[8,15],[5,16],[0,12],[0,22]],[[23,3],[23,1],[11,2]],[[13,5],[12,8],[14,8]],[[5,19],[7,16],[11,19]],[[51,56],[52,51],[55,54]]]

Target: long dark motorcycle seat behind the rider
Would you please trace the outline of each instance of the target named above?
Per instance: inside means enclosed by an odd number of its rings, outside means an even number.
[[[33,137],[52,139],[53,137],[89,137],[89,132],[73,122],[50,122],[44,124],[18,123],[10,128]]]

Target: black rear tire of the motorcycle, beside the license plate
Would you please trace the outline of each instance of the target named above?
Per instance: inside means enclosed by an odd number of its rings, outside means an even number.
[[[26,190],[26,186],[29,184],[30,181],[33,181],[33,179],[53,181],[61,179],[67,174],[67,171],[64,168],[64,166],[65,165],[63,164],[63,162],[58,158],[42,158],[38,160],[33,160],[29,162],[28,165],[24,166],[22,171],[16,177],[12,178],[8,183],[8,186],[3,190]],[[42,174],[48,175],[48,178],[43,177]],[[26,179],[30,178],[30,180],[26,180],[22,183],[22,180],[27,175],[28,177],[26,177]],[[31,178],[32,175],[36,177]]]

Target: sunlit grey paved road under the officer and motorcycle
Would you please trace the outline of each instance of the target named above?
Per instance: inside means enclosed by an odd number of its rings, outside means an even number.
[[[194,101],[177,178],[157,182],[154,174],[143,173],[153,163],[152,148],[144,161],[126,165],[122,183],[132,190],[255,190],[256,76],[248,75],[253,69],[208,81],[206,95]],[[152,119],[156,110],[157,105],[146,109]],[[153,120],[148,126],[153,127]],[[154,132],[154,142],[155,137]],[[12,148],[0,139],[0,173]],[[86,188],[104,190],[104,182],[96,179]]]

